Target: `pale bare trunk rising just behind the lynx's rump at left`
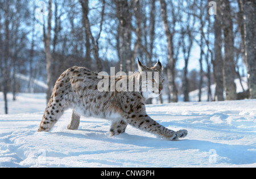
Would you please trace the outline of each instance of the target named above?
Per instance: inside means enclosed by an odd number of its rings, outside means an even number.
[[[51,19],[52,19],[52,1],[49,0],[48,5],[48,27],[47,34],[44,32],[44,52],[46,53],[46,71],[47,71],[47,102],[51,98],[52,88],[53,88],[53,61],[51,55]]]

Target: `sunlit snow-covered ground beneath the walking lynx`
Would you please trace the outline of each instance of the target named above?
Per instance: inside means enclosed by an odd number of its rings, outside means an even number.
[[[163,126],[188,130],[167,141],[131,126],[110,137],[110,122],[96,118],[82,117],[79,130],[67,130],[71,110],[51,132],[36,132],[45,97],[20,93],[5,115],[0,93],[0,166],[256,167],[256,100],[147,105]]]

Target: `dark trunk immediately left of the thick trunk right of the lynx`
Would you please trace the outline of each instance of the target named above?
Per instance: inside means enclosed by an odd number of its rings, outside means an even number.
[[[222,61],[222,36],[221,36],[221,16],[220,11],[217,11],[217,15],[214,15],[214,60],[213,63],[213,72],[214,80],[216,82],[215,90],[215,101],[224,101],[223,91],[223,61]]]

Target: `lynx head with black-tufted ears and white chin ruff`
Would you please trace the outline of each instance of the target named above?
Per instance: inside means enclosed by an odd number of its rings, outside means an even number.
[[[141,85],[143,96],[145,98],[155,98],[160,95],[163,90],[163,65],[158,60],[153,67],[149,68],[141,63],[138,59],[138,69],[141,74]]]

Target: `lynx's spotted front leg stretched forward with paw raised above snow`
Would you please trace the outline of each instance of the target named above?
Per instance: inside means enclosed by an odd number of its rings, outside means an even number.
[[[147,114],[131,114],[127,116],[126,121],[134,127],[143,131],[151,132],[167,140],[176,140],[187,136],[187,130],[179,130],[177,132],[169,130],[168,128],[157,123],[151,119]]]

